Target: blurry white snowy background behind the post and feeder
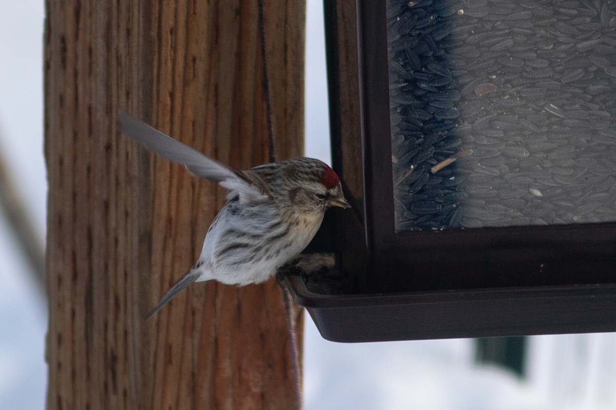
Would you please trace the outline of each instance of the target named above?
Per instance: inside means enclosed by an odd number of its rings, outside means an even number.
[[[306,154],[330,162],[323,9],[308,1]],[[43,241],[43,2],[0,13],[0,156]],[[44,409],[47,304],[0,215],[0,409]],[[474,363],[469,339],[336,344],[309,318],[307,410],[566,410],[616,408],[616,334],[535,336],[526,377]]]

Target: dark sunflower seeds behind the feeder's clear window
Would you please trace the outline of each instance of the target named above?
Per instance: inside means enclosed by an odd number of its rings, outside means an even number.
[[[388,0],[396,228],[616,221],[614,0]]]

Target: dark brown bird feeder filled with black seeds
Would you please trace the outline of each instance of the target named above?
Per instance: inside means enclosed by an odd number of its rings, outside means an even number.
[[[616,331],[616,9],[360,0],[350,66],[344,6],[326,30],[354,212],[321,235],[341,273],[286,278],[323,337]]]

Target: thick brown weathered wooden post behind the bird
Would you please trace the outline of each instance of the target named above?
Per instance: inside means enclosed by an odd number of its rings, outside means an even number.
[[[46,9],[47,409],[294,408],[275,282],[193,284],[144,323],[224,190],[116,125],[121,108],[225,164],[267,162],[257,1]],[[276,154],[299,156],[305,2],[267,0],[264,22]]]

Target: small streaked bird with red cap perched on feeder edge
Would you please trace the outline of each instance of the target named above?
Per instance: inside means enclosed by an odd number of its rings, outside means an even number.
[[[121,129],[163,158],[229,190],[195,265],[156,304],[148,320],[192,282],[261,283],[312,240],[329,207],[349,208],[338,175],[318,159],[298,157],[246,171],[227,167],[120,111]]]

